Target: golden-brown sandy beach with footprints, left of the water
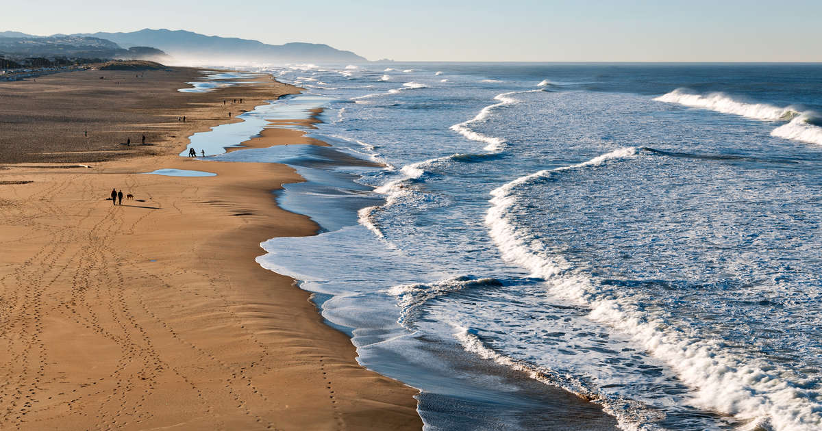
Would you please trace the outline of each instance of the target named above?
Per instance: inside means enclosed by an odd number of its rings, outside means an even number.
[[[359,366],[307,292],[254,260],[316,232],[270,193],[302,178],[177,155],[298,88],[177,91],[201,75],[0,83],[0,429],[420,429],[417,390]],[[276,128],[248,144],[321,143]],[[217,175],[142,173],[159,168]],[[134,199],[113,205],[113,187]]]

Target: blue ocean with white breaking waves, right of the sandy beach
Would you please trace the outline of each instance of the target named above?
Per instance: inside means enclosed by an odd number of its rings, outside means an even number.
[[[257,261],[426,429],[822,429],[822,65],[256,70],[332,145],[218,156],[307,179]]]

